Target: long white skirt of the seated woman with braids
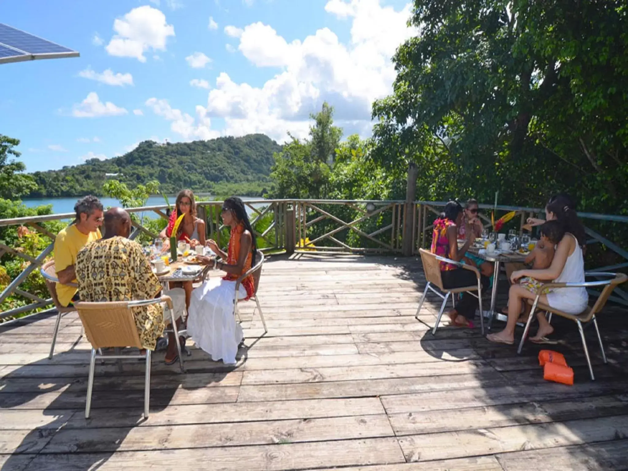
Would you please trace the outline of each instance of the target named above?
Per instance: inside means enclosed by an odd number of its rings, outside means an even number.
[[[188,334],[212,360],[236,363],[238,345],[244,338],[234,315],[235,281],[214,278],[192,291],[188,310]],[[242,284],[238,298],[246,298]]]

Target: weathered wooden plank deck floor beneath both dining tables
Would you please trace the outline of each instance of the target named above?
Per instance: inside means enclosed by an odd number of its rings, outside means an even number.
[[[0,326],[2,470],[543,470],[628,466],[628,320],[600,318],[609,356],[588,378],[575,325],[556,347],[575,385],[543,381],[538,347],[521,356],[477,330],[441,328],[416,259],[274,257],[252,306],[238,367],[192,349],[188,373],[154,355],[151,415],[141,419],[144,365],[97,368],[85,420],[89,344],[80,321]],[[521,335],[521,329],[518,331]]]

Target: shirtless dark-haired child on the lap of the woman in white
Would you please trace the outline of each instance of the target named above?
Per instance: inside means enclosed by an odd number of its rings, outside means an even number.
[[[536,247],[534,247],[533,251],[528,254],[525,261],[526,265],[532,264],[532,268],[534,270],[544,270],[549,268],[552,260],[554,259],[556,245],[558,245],[558,242],[560,242],[561,239],[563,239],[563,236],[565,236],[565,228],[557,220],[550,220],[544,222],[543,225],[539,227],[539,232],[541,234],[541,240],[537,242]],[[539,288],[543,286],[542,281],[532,278],[531,276],[521,278],[521,280],[519,280],[519,284],[531,293],[537,293]],[[546,295],[549,291],[549,288],[547,288],[543,290],[541,294]],[[524,312],[518,322],[527,322],[529,306],[524,303],[522,310]]]

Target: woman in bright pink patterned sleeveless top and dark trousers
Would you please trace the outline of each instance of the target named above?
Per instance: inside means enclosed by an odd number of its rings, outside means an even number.
[[[431,252],[441,257],[459,262],[465,257],[465,253],[475,240],[474,230],[468,230],[464,245],[458,249],[458,226],[462,224],[462,206],[460,203],[450,201],[445,205],[445,212],[434,221],[434,231],[432,234]],[[440,275],[443,281],[443,288],[453,290],[453,288],[463,288],[474,286],[477,283],[475,273],[458,268],[458,266],[440,262]],[[482,275],[482,290],[489,286],[489,278]],[[473,318],[475,309],[478,306],[477,298],[464,293],[462,300],[456,303],[456,308],[449,311],[452,325],[459,327],[474,327]]]

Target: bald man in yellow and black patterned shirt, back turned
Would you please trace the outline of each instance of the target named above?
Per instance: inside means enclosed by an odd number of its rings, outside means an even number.
[[[104,229],[102,239],[90,242],[78,252],[76,274],[80,300],[134,301],[160,295],[160,281],[142,247],[128,239],[131,234],[129,214],[122,208],[111,208],[105,214]],[[175,318],[181,317],[185,310],[185,291],[175,288],[165,294],[172,298]],[[164,330],[163,306],[160,303],[136,307],[133,313],[142,346],[154,350]],[[174,350],[170,352],[172,357],[176,355],[176,348],[174,342],[168,343],[169,352]]]

